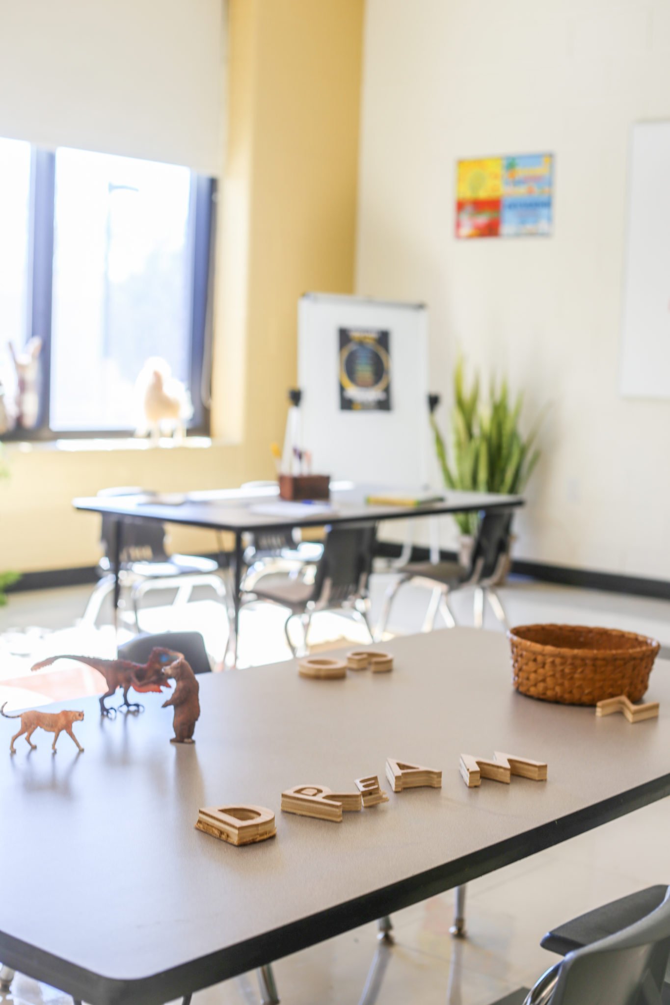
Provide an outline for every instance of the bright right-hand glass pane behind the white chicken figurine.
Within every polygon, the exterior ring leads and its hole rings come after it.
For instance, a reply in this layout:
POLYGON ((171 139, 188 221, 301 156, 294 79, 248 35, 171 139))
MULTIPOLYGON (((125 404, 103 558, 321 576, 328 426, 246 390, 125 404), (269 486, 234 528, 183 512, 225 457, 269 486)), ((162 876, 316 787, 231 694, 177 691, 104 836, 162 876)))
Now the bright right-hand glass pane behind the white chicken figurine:
MULTIPOLYGON (((187 168, 56 151, 52 429, 134 428, 135 384, 149 357, 189 384, 191 179, 187 168)), ((0 262, 3 247, 0 234, 0 262)))

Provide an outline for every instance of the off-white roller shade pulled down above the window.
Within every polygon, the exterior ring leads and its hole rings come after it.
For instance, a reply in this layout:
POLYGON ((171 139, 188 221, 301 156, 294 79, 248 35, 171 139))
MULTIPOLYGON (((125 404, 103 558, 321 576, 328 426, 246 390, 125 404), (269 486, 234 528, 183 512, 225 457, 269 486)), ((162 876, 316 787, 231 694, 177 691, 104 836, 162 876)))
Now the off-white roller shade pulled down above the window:
POLYGON ((224 0, 0 0, 0 136, 221 169, 224 0))

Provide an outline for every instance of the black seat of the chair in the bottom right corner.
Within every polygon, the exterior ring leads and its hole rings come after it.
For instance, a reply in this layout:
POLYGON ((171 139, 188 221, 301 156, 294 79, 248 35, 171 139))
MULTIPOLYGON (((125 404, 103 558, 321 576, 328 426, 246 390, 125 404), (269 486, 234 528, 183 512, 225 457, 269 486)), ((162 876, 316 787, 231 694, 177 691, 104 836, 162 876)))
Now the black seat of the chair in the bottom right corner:
POLYGON ((589 911, 586 915, 574 918, 572 922, 566 922, 556 929, 547 932, 540 946, 550 953, 557 953, 559 956, 567 956, 568 953, 583 946, 591 946, 592 943, 608 936, 622 932, 630 925, 646 918, 652 911, 658 908, 665 897, 667 886, 648 886, 637 893, 629 896, 622 896, 611 903, 605 903, 602 908, 589 911))

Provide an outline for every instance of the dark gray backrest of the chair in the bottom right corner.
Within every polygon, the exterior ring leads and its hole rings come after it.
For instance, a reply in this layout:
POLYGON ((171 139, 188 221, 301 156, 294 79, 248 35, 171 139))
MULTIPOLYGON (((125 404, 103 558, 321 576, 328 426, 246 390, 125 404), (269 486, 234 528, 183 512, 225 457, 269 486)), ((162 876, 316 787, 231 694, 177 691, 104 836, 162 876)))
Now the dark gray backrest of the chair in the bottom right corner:
POLYGON ((661 1005, 670 958, 669 893, 660 908, 630 928, 569 953, 551 1005, 661 1005))

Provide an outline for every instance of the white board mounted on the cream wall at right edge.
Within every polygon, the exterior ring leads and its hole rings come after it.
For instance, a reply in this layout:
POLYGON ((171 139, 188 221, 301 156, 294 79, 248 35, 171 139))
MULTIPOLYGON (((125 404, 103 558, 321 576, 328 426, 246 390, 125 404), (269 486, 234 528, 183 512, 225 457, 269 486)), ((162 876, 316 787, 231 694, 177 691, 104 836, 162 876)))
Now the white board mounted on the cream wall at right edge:
POLYGON ((670 398, 670 123, 633 127, 621 392, 670 398))

